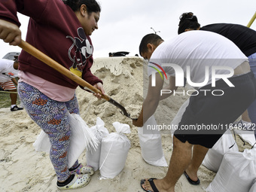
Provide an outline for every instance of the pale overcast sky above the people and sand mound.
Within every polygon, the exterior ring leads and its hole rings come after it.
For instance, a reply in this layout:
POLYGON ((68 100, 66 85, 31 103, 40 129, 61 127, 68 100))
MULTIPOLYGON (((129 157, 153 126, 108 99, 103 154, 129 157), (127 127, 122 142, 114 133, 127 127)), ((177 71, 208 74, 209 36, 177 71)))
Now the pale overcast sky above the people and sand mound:
MULTIPOLYGON (((91 35, 93 57, 105 57, 109 52, 128 51, 128 56, 139 54, 139 43, 148 33, 157 32, 163 39, 178 35, 179 16, 193 12, 201 26, 211 23, 247 25, 256 11, 255 0, 99 0, 102 12, 99 29, 91 35), (153 29, 151 29, 151 27, 153 29), (160 31, 160 32, 158 32, 160 31)), ((23 40, 29 18, 21 14, 23 40)), ((251 25, 256 30, 256 20, 251 25)), ((6 53, 20 51, 0 40, 0 58, 6 53)))

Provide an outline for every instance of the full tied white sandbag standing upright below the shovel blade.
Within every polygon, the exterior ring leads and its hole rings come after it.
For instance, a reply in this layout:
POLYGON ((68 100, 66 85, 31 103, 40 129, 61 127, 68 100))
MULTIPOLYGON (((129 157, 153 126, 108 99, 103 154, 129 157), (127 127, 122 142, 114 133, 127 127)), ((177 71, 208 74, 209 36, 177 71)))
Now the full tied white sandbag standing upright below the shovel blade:
POLYGON ((130 126, 114 122, 117 133, 110 133, 102 139, 102 150, 99 160, 101 178, 114 178, 125 166, 130 140, 123 133, 130 133, 130 126))

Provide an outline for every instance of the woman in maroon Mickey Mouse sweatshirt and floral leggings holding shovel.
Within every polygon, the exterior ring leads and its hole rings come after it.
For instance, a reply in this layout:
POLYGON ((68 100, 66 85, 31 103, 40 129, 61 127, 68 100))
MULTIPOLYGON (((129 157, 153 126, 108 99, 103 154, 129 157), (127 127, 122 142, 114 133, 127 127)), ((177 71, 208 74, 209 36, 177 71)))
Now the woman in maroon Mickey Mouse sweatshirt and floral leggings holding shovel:
MULTIPOLYGON (((98 29, 101 8, 95 0, 3 0, 0 38, 11 45, 21 41, 17 12, 30 17, 26 41, 105 93, 91 72, 93 45, 89 35, 98 29)), ((69 169, 69 113, 79 114, 78 84, 22 51, 19 56, 19 95, 29 116, 48 134, 50 160, 60 190, 84 187, 93 169, 75 163, 69 169)), ((99 94, 96 95, 100 98, 99 94)))

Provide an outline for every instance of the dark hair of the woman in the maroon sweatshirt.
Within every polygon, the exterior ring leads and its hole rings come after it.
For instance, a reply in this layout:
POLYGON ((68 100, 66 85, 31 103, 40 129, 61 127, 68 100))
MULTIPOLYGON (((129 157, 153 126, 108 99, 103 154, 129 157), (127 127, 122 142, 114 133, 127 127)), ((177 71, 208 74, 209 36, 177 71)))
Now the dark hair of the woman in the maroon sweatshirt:
POLYGON ((81 5, 87 6, 88 14, 92 12, 100 12, 101 8, 95 0, 62 0, 66 5, 72 8, 73 11, 78 11, 81 5))

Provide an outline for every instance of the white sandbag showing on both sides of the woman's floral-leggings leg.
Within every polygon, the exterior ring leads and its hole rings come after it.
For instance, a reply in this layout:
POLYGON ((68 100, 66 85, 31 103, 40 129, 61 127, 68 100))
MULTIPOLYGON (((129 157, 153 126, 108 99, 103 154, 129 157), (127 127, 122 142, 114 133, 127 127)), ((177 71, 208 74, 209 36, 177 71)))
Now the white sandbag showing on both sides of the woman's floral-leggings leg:
MULTIPOLYGON (((96 139, 79 114, 69 114, 69 119, 72 134, 68 151, 68 166, 71 168, 86 148, 87 150, 97 148, 98 139, 96 139)), ((41 130, 33 146, 35 151, 50 152, 50 140, 44 131, 41 130)))

